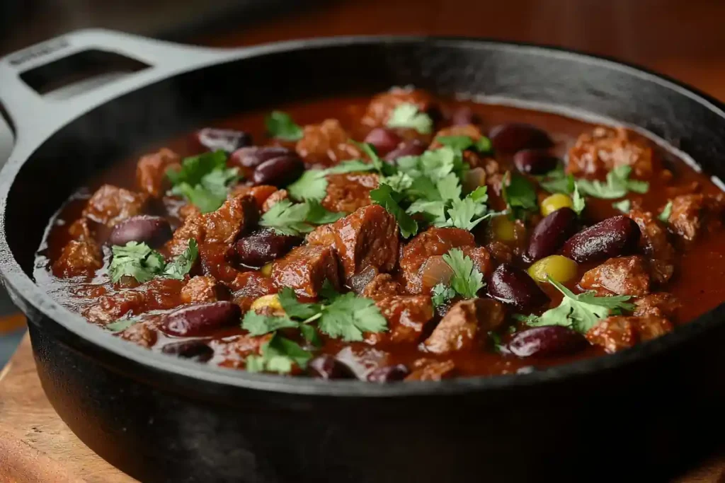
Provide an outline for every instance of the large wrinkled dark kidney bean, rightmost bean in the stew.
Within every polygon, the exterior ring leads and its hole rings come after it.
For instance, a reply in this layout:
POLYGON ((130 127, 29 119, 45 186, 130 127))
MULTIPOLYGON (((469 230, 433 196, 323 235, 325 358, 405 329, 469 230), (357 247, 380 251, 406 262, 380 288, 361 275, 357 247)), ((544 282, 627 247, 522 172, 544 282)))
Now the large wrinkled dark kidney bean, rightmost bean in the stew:
POLYGON ((566 240, 563 255, 579 262, 626 255, 636 250, 640 235, 631 218, 611 217, 566 240))

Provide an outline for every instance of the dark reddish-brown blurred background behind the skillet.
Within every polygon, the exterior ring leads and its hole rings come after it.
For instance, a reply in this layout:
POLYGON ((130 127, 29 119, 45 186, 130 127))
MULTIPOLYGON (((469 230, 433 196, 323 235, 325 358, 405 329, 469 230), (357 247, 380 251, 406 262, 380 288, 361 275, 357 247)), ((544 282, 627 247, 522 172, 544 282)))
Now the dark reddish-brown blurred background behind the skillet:
MULTIPOLYGON (((0 0, 0 56, 88 27, 209 46, 464 35, 613 56, 725 100, 724 19, 725 0, 0 0)), ((24 324, 0 293, 0 366, 24 324)))

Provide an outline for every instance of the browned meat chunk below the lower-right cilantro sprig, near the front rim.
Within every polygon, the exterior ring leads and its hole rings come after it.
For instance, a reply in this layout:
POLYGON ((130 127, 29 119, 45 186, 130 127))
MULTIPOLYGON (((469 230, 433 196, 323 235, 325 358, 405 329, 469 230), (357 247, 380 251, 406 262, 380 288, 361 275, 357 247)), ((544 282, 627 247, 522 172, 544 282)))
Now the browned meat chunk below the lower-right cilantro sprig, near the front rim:
POLYGON ((587 332, 587 340, 601 345, 608 353, 633 347, 639 342, 660 337, 673 329, 662 317, 608 317, 587 332))

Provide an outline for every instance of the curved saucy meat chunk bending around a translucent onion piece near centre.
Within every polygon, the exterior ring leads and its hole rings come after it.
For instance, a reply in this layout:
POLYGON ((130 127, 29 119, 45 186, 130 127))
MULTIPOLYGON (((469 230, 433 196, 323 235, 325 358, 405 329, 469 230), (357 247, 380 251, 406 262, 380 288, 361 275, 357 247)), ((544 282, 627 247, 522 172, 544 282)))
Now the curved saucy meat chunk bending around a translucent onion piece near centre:
POLYGON ((460 228, 428 228, 403 246, 400 269, 405 288, 410 293, 421 293, 421 266, 431 256, 443 255, 451 248, 476 245, 471 232, 460 228))

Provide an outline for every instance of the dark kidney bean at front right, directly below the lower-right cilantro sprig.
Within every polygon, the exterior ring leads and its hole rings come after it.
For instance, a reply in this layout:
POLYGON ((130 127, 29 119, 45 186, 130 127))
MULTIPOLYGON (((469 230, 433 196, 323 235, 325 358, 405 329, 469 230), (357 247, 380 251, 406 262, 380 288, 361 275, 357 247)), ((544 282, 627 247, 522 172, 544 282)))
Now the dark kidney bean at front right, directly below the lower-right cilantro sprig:
POLYGON ((526 329, 513 336, 508 350, 515 356, 563 356, 587 347, 579 332, 560 325, 526 329))

